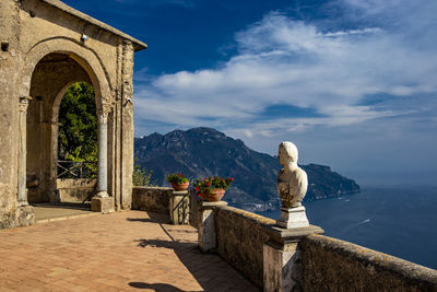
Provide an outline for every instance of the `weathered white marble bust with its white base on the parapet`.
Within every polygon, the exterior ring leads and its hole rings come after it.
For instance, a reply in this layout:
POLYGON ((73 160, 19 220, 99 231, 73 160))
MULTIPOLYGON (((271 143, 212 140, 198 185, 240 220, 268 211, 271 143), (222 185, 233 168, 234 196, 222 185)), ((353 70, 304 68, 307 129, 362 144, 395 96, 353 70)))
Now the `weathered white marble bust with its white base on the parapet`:
POLYGON ((286 229, 308 226, 305 207, 302 206, 302 200, 308 189, 308 177, 305 171, 297 165, 297 148, 292 142, 282 142, 277 155, 283 168, 277 174, 282 214, 276 224, 286 229))

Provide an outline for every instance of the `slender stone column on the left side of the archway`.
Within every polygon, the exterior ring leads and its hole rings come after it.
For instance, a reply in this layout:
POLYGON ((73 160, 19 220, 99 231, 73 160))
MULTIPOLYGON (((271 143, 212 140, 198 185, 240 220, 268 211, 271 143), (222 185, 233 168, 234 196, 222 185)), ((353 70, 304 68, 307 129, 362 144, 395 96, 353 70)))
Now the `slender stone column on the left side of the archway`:
POLYGON ((26 160, 27 160, 27 107, 32 97, 21 97, 19 104, 19 186, 17 201, 19 207, 27 206, 27 186, 26 186, 26 160))

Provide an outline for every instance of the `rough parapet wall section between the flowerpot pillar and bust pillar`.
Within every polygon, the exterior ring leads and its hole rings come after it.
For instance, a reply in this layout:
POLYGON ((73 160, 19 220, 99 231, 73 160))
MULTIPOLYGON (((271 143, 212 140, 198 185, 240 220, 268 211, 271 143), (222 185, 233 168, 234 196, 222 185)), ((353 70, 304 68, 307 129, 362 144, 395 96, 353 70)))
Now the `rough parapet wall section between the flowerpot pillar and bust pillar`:
POLYGON ((258 287, 263 287, 265 227, 274 220, 233 207, 215 209, 217 253, 258 287))

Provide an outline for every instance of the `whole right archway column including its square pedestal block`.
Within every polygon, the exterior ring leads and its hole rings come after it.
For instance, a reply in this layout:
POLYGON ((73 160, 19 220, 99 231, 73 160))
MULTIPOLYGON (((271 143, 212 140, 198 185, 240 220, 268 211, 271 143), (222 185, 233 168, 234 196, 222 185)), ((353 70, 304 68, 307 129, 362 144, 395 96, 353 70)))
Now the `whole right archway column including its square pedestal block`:
POLYGON ((108 113, 97 114, 98 119, 98 174, 97 194, 91 200, 91 210, 114 212, 114 198, 108 195, 108 113))

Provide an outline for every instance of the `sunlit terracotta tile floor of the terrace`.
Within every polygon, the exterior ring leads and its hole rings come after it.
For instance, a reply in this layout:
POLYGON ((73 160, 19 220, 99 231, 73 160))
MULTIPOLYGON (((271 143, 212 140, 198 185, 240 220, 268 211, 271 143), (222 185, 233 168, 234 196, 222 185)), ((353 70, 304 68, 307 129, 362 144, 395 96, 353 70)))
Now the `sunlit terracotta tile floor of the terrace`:
POLYGON ((0 231, 0 291, 258 291, 191 226, 128 211, 0 231))

